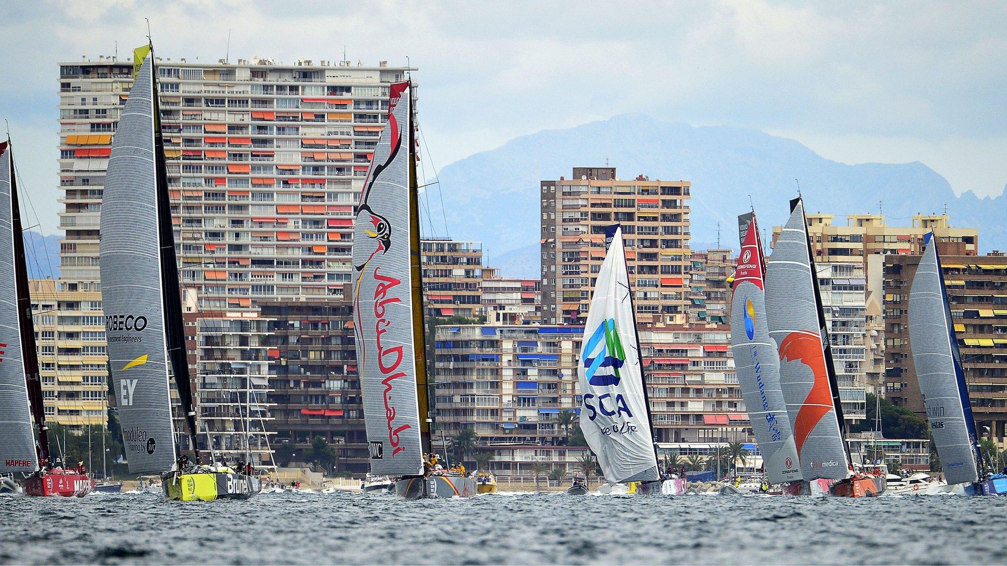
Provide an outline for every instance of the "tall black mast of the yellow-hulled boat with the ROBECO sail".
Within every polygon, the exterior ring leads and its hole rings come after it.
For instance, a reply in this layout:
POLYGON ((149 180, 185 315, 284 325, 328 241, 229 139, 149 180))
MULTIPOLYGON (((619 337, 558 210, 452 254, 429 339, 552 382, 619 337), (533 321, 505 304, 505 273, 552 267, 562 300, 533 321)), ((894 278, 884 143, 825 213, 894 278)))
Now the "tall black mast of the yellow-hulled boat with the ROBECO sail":
MULTIPOLYGON (((164 158, 164 139, 161 136, 161 112, 157 93, 157 57, 150 44, 150 90, 154 108, 154 165, 156 173, 157 237, 161 250, 161 285, 164 289, 164 336, 175 388, 181 401, 182 414, 188 426, 189 441, 199 462, 199 445, 196 443, 195 408, 192 403, 192 383, 189 379, 188 355, 185 350, 185 325, 182 321, 181 286, 178 281, 178 262, 175 258, 174 229, 171 224, 171 198, 168 193, 168 169, 164 158)), ((212 462, 211 462, 212 463, 212 462)))

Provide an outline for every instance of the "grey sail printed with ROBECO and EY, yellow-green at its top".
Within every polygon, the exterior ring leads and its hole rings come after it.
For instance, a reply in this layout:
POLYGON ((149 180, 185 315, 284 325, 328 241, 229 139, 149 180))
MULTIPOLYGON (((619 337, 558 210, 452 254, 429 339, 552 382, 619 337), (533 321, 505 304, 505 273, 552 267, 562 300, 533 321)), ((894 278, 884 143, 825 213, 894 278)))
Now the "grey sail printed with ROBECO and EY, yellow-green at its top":
POLYGON ((112 141, 100 264, 109 370, 130 473, 171 468, 171 422, 155 156, 153 57, 142 56, 112 141))

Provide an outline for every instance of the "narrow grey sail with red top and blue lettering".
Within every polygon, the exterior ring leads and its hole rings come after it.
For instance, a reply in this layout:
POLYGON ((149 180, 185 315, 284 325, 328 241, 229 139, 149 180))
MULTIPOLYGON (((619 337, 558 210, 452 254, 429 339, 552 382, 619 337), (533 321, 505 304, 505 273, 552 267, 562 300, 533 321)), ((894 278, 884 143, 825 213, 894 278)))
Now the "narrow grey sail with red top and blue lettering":
POLYGON ((764 261, 752 214, 742 215, 741 255, 731 299, 731 351, 770 483, 801 479, 794 429, 779 385, 779 358, 765 316, 764 261))

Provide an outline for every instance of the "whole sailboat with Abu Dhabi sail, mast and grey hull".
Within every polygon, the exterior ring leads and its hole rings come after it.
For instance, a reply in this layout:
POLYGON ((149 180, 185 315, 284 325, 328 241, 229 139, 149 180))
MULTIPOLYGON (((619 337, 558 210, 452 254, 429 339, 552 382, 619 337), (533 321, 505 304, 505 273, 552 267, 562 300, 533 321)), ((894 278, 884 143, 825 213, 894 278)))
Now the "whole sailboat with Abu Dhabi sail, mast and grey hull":
POLYGON ((412 86, 389 89, 353 229, 356 359, 371 472, 396 477, 408 500, 467 498, 473 477, 440 469, 431 453, 412 86))

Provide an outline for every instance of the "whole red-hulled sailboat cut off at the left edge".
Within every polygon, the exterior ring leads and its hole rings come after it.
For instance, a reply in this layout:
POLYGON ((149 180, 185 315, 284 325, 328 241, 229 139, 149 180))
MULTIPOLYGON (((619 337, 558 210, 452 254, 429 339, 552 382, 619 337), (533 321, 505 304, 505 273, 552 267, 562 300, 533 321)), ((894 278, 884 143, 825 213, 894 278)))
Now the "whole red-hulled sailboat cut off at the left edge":
POLYGON ((0 142, 0 490, 84 497, 95 480, 52 465, 28 296, 23 225, 10 138, 0 142))

